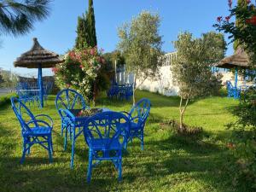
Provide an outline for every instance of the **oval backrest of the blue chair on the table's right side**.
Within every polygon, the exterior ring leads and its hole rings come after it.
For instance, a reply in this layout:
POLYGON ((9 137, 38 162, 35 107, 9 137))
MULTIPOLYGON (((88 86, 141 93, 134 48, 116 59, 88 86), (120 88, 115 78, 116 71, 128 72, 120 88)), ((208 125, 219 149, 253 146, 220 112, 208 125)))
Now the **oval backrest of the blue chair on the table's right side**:
POLYGON ((138 101, 130 111, 130 116, 132 118, 132 121, 134 123, 143 125, 149 115, 151 108, 151 103, 148 99, 143 98, 140 101, 138 101))

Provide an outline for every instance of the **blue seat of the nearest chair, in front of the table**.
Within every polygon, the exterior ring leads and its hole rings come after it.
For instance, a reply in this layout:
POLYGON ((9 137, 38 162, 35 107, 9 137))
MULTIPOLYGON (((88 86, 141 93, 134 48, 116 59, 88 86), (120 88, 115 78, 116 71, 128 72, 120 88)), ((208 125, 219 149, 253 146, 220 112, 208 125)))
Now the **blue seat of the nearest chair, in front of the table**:
POLYGON ((113 140, 110 146, 108 143, 110 142, 109 138, 103 139, 94 139, 90 143, 90 148, 93 150, 121 150, 122 145, 119 143, 119 140, 113 140))

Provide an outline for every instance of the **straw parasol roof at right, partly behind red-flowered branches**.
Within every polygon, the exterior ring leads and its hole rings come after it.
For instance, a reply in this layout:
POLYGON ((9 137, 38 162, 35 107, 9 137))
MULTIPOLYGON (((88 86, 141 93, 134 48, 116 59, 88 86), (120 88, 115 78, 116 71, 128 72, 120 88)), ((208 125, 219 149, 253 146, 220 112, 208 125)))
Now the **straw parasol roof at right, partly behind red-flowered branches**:
POLYGON ((215 67, 221 67, 221 68, 234 68, 234 67, 241 67, 241 68, 250 68, 248 65, 249 59, 247 53, 244 51, 244 49, 241 49, 239 47, 236 49, 236 52, 234 55, 225 57, 222 61, 219 61, 217 64, 215 64, 215 67))

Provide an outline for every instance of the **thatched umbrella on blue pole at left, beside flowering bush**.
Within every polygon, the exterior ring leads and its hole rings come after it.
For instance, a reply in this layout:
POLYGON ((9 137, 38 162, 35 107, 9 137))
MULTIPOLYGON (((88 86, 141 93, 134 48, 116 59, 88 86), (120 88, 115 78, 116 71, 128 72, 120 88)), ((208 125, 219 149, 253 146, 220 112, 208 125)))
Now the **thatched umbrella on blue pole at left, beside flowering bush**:
POLYGON ((59 55, 44 49, 37 38, 33 38, 32 49, 20 55, 14 62, 15 67, 38 68, 38 88, 41 108, 44 108, 44 89, 42 80, 42 68, 55 67, 57 63, 63 62, 59 55))

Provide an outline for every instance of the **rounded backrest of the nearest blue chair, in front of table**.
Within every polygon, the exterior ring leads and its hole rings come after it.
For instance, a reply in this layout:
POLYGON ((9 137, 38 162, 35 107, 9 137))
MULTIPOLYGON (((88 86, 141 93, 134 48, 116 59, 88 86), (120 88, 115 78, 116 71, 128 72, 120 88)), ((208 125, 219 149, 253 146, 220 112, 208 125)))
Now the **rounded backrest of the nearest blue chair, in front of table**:
POLYGON ((129 129, 130 120, 123 113, 97 113, 86 120, 84 124, 84 139, 89 147, 97 140, 99 145, 104 145, 108 149, 113 141, 124 144, 127 134, 122 133, 129 129))

